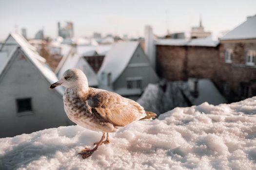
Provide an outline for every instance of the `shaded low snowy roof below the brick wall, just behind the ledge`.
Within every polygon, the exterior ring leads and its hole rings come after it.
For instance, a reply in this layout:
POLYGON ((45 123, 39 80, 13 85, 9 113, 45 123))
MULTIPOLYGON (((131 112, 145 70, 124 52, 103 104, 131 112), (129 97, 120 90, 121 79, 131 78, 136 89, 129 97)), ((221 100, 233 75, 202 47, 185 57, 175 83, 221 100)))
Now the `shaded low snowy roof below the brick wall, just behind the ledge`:
POLYGON ((211 80, 190 78, 188 81, 149 84, 137 102, 146 110, 161 114, 175 107, 199 105, 203 102, 217 105, 227 101, 211 80), (193 95, 196 80, 197 95, 193 95))

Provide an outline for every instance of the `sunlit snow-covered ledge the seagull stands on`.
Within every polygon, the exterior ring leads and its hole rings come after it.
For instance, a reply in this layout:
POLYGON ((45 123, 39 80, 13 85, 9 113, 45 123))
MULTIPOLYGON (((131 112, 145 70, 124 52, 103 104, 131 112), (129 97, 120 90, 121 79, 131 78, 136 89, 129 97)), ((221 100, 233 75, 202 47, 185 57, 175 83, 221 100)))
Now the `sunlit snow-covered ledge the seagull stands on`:
POLYGON ((0 169, 256 169, 256 97, 218 106, 175 108, 110 135, 89 158, 100 133, 79 126, 0 139, 0 169))

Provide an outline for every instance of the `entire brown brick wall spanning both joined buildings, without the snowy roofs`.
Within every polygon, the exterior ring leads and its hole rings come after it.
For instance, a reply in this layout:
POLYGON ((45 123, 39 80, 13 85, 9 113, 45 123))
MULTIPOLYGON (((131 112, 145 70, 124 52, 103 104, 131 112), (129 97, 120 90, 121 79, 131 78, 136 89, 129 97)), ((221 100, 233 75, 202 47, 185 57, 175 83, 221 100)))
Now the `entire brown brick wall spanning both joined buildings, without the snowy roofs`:
POLYGON ((256 66, 245 65, 248 50, 256 50, 256 39, 221 41, 217 47, 158 45, 157 72, 172 81, 209 78, 235 102, 256 95, 256 66), (226 49, 233 50, 232 63, 225 63, 226 49), (246 96, 244 86, 248 86, 246 96))

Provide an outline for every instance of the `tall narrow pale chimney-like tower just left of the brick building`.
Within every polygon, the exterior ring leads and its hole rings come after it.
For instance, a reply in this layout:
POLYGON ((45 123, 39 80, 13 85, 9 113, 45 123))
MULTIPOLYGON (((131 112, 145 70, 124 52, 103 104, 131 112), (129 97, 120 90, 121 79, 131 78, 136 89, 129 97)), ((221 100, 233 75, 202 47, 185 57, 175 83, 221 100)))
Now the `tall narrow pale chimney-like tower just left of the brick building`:
POLYGON ((152 67, 156 70, 156 46, 151 26, 145 26, 145 53, 147 54, 152 67))

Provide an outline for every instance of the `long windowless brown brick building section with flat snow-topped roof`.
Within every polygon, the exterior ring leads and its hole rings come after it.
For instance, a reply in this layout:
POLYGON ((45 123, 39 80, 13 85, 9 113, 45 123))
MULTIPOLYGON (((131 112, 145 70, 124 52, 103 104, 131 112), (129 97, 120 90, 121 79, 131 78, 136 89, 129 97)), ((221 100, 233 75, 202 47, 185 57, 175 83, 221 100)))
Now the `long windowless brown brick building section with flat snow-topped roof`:
POLYGON ((215 77, 218 41, 203 39, 162 39, 157 42, 157 72, 177 81, 215 77))

